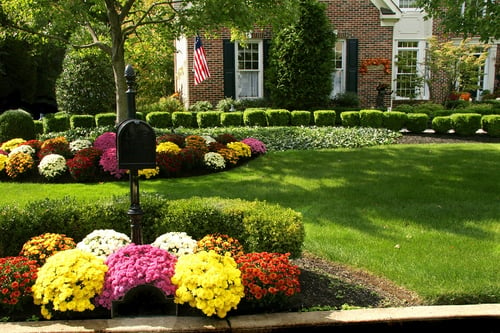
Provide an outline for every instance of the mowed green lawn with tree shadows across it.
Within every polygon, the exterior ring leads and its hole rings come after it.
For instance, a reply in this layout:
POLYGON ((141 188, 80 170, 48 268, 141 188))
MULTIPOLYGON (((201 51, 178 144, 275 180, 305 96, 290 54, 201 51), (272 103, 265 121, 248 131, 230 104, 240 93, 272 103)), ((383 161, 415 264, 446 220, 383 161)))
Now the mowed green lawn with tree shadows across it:
MULTIPOLYGON (((279 203, 303 214, 308 251, 428 304, 500 302, 499 167, 499 144, 286 151, 223 173, 141 181, 140 190, 279 203)), ((3 205, 129 193, 127 181, 0 186, 3 205)))

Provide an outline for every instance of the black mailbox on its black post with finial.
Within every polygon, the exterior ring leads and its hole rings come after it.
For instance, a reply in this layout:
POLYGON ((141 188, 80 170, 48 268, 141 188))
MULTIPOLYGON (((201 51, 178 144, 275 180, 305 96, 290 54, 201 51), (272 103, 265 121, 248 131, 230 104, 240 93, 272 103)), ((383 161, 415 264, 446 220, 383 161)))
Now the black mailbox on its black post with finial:
POLYGON ((131 239, 142 244, 142 211, 139 200, 139 169, 156 167, 156 136, 152 127, 135 119, 135 72, 132 66, 125 69, 127 79, 128 118, 118 125, 116 146, 118 167, 129 170, 130 179, 130 217, 131 239))

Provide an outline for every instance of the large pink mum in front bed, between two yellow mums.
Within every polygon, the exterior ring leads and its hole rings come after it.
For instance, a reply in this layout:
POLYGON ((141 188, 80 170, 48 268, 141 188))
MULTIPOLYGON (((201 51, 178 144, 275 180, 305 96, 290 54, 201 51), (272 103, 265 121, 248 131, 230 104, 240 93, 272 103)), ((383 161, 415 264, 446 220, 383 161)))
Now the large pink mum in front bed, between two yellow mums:
POLYGON ((110 309, 113 301, 142 284, 151 284, 165 295, 173 295, 176 287, 171 278, 176 262, 174 255, 151 245, 130 244, 119 249, 106 260, 109 269, 96 304, 110 309))

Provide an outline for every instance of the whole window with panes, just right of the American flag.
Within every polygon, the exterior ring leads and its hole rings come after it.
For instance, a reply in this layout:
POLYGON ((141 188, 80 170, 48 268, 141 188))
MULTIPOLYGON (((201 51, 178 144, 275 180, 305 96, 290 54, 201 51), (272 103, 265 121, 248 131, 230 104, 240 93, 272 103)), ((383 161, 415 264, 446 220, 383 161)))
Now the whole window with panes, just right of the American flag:
POLYGON ((263 97, 262 41, 236 43, 236 99, 263 97))

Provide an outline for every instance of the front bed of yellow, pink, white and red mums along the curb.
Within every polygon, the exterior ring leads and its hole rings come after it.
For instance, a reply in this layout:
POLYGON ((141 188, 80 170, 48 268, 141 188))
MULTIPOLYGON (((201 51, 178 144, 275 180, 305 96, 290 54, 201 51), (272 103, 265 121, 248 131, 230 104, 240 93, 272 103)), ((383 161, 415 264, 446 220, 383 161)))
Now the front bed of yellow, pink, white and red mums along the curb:
POLYGON ((0 309, 23 312, 20 300, 32 299, 31 305, 39 306, 32 313, 37 317, 66 313, 65 319, 71 319, 82 312, 92 317, 93 311, 109 311, 129 291, 146 286, 165 300, 172 296, 176 304, 224 318, 243 300, 282 305, 300 292, 300 271, 288 257, 244 253, 239 241, 226 234, 196 241, 184 232, 170 232, 151 245, 136 245, 114 230, 95 230, 75 248, 72 238, 47 233, 26 242, 21 256, 0 258, 0 309), (25 257, 34 254, 44 260, 25 257))

